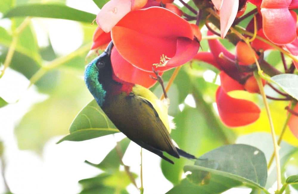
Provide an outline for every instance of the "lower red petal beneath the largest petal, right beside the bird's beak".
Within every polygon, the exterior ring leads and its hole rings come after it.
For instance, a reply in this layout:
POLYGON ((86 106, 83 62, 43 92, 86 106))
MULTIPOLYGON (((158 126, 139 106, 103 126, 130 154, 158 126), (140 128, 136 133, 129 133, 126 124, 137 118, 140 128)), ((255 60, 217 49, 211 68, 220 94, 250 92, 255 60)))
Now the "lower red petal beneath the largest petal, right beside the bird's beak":
MULTIPOLYGON (((146 88, 152 87, 157 82, 150 78, 150 74, 156 77, 153 72, 142 71, 134 67, 118 53, 115 47, 112 49, 111 62, 115 75, 123 81, 139 84, 146 88)), ((162 73, 159 75, 161 76, 162 73)))

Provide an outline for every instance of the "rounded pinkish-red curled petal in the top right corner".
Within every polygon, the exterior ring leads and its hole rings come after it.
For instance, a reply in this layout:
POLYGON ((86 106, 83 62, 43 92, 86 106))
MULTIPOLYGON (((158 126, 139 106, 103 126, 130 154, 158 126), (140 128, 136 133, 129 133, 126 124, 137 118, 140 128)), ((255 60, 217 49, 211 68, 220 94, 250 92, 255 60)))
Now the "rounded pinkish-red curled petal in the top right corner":
POLYGON ((288 8, 262 8, 261 12, 264 34, 271 42, 283 45, 296 39, 296 22, 288 8))

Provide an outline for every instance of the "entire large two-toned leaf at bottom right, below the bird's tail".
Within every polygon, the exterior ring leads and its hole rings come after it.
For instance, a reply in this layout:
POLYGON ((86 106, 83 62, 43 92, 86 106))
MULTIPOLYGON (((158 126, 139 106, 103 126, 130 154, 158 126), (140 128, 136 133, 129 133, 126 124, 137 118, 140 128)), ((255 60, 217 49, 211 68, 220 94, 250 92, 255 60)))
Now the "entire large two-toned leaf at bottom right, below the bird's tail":
POLYGON ((192 193, 222 193, 230 188, 246 186, 268 193, 266 184, 267 165, 263 152, 244 144, 219 147, 200 157, 195 165, 187 165, 187 180, 173 187, 168 194, 187 190, 192 193))

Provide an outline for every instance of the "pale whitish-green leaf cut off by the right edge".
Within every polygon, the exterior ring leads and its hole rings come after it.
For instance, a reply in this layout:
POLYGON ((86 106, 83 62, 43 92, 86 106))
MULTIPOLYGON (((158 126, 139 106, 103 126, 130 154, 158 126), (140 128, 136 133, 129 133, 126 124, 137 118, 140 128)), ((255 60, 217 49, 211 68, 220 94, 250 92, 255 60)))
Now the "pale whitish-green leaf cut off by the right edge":
POLYGON ((286 93, 298 99, 298 76, 294 74, 281 74, 271 77, 271 80, 279 85, 286 93))

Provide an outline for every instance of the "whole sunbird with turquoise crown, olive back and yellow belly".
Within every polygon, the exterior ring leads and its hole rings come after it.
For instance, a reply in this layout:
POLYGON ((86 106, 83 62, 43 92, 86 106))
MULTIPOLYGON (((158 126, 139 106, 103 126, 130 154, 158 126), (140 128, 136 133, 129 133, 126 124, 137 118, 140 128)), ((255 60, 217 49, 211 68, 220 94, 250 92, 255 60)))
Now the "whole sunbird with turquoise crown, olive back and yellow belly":
POLYGON ((159 155, 197 159, 173 144, 166 105, 147 88, 119 79, 111 64, 111 41, 86 67, 85 82, 97 104, 119 131, 139 146, 159 155))

